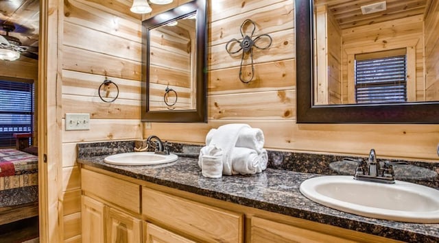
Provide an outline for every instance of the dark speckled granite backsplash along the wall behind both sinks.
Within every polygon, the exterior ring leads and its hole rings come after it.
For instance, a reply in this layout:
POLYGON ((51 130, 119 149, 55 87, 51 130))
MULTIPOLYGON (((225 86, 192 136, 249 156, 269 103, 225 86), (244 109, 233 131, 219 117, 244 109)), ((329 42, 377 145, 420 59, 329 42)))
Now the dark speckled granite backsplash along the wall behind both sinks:
MULTIPOLYGON (((180 157, 198 158, 202 145, 168 142, 169 151, 180 157)), ((78 144, 78 157, 93 157, 134 151, 134 141, 91 142, 78 144)), ((149 149, 154 151, 154 149, 149 149)), ((379 153, 377 154, 379 158, 379 153)), ((320 155, 268 150, 268 168, 320 175, 354 175, 358 160, 367 157, 320 155), (347 159, 346 159, 347 158, 347 159)), ((439 162, 418 162, 400 159, 378 159, 405 162, 395 164, 395 179, 418 183, 439 190, 439 162)))

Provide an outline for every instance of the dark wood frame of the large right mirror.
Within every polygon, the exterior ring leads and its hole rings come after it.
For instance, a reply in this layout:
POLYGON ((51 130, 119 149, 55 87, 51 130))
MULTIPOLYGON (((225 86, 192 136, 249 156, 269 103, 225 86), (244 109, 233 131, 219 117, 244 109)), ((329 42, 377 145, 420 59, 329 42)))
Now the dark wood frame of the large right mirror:
POLYGON ((313 0, 296 0, 297 123, 439 123, 439 102, 313 105, 313 0))

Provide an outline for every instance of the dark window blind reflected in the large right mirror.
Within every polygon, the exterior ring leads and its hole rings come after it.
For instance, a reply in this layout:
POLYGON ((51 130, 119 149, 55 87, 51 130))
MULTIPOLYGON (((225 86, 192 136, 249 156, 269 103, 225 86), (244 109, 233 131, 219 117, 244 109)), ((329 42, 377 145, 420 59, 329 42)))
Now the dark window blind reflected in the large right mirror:
POLYGON ((357 103, 407 101, 405 55, 355 60, 357 103))

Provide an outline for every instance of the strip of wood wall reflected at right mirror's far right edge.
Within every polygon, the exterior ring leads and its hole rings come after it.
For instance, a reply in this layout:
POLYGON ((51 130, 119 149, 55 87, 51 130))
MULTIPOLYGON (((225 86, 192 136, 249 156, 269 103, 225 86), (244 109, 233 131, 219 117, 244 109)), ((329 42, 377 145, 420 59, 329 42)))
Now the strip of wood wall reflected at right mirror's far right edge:
POLYGON ((439 99, 439 1, 431 1, 425 18, 425 96, 439 99))

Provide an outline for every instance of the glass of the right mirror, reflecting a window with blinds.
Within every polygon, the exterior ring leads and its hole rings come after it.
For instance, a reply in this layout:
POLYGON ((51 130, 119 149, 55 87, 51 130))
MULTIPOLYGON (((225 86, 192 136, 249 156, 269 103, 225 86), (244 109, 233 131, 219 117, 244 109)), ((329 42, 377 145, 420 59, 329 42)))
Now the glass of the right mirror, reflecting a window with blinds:
POLYGON ((313 105, 439 101, 431 2, 313 0, 313 105))

